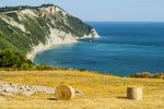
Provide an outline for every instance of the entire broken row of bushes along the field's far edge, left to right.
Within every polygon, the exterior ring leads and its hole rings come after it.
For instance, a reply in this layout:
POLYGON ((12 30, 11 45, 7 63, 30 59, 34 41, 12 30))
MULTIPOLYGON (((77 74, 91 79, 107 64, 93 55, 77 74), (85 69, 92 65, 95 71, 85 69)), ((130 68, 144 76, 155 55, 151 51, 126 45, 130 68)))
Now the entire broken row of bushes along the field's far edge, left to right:
MULTIPOLYGON (((46 63, 35 64, 31 60, 26 59, 24 56, 21 56, 19 52, 12 51, 12 49, 4 49, 0 51, 0 70, 5 71, 54 71, 54 70, 63 70, 63 71, 73 71, 69 68, 57 68, 50 66, 46 63)), ((86 72, 86 69, 77 69, 81 72, 86 72)), ((97 73, 97 72, 96 72, 97 73)), ((101 74, 101 73, 97 73, 101 74)), ((104 74, 105 75, 105 74, 104 74)), ((112 74, 106 74, 112 75, 112 74)), ((116 75, 114 75, 116 76, 116 75)), ((149 72, 131 74, 128 77, 139 77, 139 78, 164 78, 164 73, 151 74, 149 72)))

